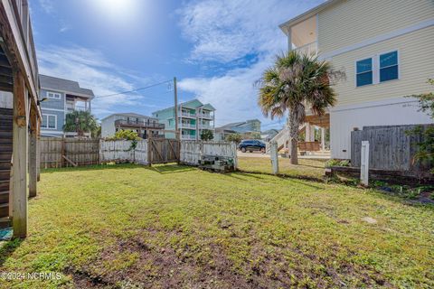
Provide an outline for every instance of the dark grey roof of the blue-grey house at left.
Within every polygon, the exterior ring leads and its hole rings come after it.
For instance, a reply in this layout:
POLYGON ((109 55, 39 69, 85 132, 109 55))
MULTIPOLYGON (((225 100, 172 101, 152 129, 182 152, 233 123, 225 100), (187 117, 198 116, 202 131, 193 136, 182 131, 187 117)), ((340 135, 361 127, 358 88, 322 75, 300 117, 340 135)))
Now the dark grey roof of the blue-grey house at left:
POLYGON ((95 95, 91 89, 81 89, 77 81, 54 78, 48 75, 39 75, 41 89, 52 89, 56 91, 63 91, 67 94, 76 95, 83 98, 94 98, 95 95))

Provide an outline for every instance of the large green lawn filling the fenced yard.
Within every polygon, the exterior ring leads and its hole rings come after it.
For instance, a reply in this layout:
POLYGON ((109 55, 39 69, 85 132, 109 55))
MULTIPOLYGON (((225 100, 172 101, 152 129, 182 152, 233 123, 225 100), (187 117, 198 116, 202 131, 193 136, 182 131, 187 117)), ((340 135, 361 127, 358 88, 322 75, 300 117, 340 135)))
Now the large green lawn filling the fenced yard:
POLYGON ((3 244, 0 271, 60 272, 61 280, 3 288, 434 286, 432 206, 176 165, 41 177, 29 237, 3 244))

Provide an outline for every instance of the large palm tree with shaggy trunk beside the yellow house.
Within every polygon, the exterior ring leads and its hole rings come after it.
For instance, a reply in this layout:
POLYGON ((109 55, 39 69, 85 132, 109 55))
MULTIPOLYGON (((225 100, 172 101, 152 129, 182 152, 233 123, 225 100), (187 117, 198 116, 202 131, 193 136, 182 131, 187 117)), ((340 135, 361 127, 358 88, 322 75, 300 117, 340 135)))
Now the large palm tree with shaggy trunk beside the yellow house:
POLYGON ((341 77, 344 72, 332 70, 329 62, 297 51, 276 56, 274 66, 263 72, 259 79, 259 107, 271 119, 283 117, 288 110, 291 163, 298 164, 298 129, 306 109, 322 116, 326 107, 334 106, 331 82, 341 77))

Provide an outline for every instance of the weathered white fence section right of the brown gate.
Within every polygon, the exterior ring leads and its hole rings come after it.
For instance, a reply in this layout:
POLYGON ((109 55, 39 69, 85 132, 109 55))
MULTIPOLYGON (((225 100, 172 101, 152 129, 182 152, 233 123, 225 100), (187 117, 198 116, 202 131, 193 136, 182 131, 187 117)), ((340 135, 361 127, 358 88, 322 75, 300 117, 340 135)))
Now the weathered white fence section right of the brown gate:
POLYGON ((203 154, 231 157, 238 167, 237 144, 226 142, 182 141, 180 162, 198 165, 203 154))

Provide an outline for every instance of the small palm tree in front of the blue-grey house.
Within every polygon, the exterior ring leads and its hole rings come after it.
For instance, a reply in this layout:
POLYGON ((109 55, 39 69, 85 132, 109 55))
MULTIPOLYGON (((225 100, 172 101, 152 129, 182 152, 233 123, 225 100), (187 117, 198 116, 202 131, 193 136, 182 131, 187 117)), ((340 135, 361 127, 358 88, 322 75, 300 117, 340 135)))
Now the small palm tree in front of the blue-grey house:
POLYGON ((97 120, 89 111, 74 110, 66 115, 63 132, 76 132, 77 135, 83 136, 84 133, 95 131, 97 127, 97 120))

